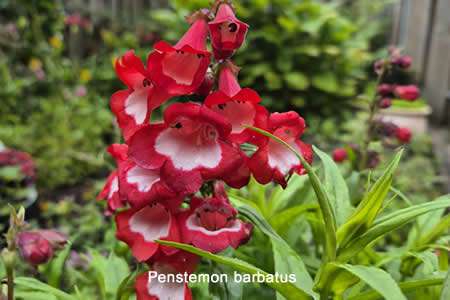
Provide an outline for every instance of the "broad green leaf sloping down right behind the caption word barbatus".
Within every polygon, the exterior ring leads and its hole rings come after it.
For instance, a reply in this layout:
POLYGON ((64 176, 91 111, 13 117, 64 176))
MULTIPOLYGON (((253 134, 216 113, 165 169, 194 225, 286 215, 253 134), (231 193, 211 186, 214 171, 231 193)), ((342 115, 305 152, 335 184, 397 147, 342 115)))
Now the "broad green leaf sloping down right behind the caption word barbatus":
POLYGON ((296 286, 307 294, 317 297, 313 292, 313 280, 301 257, 273 230, 267 221, 247 205, 237 207, 239 213, 254 223, 271 242, 275 261, 275 270, 279 274, 295 274, 296 286))

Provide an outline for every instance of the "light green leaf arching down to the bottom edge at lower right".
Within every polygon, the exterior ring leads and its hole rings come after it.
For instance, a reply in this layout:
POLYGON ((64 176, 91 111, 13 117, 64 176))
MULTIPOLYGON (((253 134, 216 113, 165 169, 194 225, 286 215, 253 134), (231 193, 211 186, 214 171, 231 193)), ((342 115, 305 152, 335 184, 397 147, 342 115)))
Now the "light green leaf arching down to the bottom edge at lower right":
MULTIPOLYGON (((386 300, 406 300, 395 280, 382 269, 368 266, 335 264, 359 277, 371 288, 380 293, 386 300)), ((364 298, 365 299, 365 298, 364 298)))

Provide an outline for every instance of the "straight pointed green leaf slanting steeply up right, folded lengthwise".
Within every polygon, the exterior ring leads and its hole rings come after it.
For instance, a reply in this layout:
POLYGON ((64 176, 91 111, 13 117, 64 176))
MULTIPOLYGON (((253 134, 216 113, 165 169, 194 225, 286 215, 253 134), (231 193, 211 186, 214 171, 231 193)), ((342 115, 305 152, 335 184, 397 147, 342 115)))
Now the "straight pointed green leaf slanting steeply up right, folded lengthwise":
POLYGON ((374 183, 369 192, 364 195, 364 198, 356 207, 356 210, 347 222, 339 227, 337 231, 337 241, 340 248, 345 247, 353 236, 359 236, 374 222, 389 193, 394 171, 397 169, 402 154, 403 150, 395 155, 383 175, 374 183))

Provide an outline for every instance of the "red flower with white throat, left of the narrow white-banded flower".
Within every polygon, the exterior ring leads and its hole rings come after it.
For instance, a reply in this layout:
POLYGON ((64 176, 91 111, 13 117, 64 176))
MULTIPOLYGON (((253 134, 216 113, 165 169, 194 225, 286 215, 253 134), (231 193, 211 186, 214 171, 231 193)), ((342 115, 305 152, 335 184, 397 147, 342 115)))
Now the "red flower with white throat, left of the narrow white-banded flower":
POLYGON ((158 250, 173 254, 177 249, 161 246, 155 240, 178 242, 180 234, 175 217, 160 203, 141 209, 128 209, 116 215, 117 239, 131 248, 138 261, 148 260, 158 250))

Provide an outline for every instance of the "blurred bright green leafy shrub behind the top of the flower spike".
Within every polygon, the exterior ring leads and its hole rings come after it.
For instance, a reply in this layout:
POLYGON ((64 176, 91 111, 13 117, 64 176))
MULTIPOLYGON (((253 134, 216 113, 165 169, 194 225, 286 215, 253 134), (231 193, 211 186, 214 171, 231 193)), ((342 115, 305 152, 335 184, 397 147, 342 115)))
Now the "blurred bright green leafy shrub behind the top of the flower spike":
MULTIPOLYGON (((207 2, 173 1, 173 11, 152 12, 154 30, 174 40, 183 30, 180 19, 207 2)), ((370 40, 379 22, 353 21, 347 8, 319 1, 242 0, 235 6, 251 24, 236 57, 245 66, 242 85, 257 87, 272 110, 296 108, 328 116, 345 111, 367 79, 370 40)))

